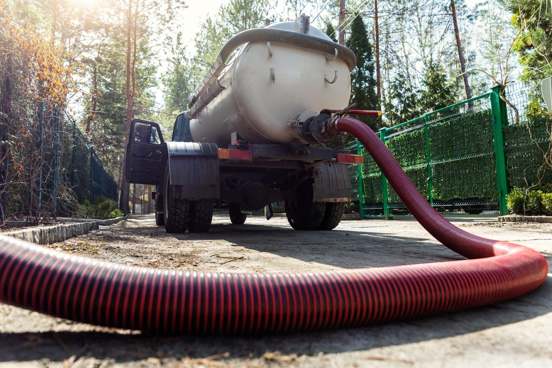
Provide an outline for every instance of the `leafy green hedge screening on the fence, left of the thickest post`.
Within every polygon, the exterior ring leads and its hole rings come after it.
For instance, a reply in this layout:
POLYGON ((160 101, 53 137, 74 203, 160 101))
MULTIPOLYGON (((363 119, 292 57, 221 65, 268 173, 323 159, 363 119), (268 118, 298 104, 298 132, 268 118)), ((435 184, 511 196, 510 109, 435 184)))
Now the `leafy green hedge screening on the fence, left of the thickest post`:
MULTIPOLYGON (((426 131, 420 121, 412 125, 399 135, 388 131, 391 136, 386 144, 408 177, 429 199, 426 131)), ((434 201, 498 198, 490 109, 430 121, 428 135, 434 201)), ((379 168, 365 150, 362 154, 365 203, 380 203, 379 168)), ((400 202, 390 186, 389 201, 400 202)))

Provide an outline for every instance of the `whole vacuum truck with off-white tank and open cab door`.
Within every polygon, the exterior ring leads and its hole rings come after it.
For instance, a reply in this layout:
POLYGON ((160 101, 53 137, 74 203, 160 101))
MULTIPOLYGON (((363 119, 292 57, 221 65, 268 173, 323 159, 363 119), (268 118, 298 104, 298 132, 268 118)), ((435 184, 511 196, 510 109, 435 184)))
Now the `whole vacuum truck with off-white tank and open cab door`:
POLYGON ((132 121, 126 180, 157 185, 156 223, 169 233, 208 231, 214 209, 243 224, 268 206, 269 219, 279 201, 295 230, 332 230, 351 201, 346 165, 363 157, 325 148, 337 134, 322 123, 349 104, 355 62, 304 14, 236 34, 170 141, 155 122, 132 121))

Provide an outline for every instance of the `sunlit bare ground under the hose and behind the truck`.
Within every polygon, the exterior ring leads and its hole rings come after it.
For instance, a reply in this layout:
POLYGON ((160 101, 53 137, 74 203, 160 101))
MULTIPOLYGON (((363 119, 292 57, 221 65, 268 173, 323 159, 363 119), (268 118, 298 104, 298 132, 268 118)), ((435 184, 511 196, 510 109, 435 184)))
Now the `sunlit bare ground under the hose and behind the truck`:
MULTIPOLYGON (((534 248, 552 264, 552 224, 455 219, 457 226, 534 248)), ((153 216, 55 244, 126 264, 212 271, 316 271, 463 259, 416 221, 343 221, 330 232, 294 231, 285 218, 209 233, 167 234, 153 216)), ((0 366, 464 367, 552 366, 552 274, 539 289, 476 310, 363 328, 257 337, 145 335, 0 304, 0 366)))

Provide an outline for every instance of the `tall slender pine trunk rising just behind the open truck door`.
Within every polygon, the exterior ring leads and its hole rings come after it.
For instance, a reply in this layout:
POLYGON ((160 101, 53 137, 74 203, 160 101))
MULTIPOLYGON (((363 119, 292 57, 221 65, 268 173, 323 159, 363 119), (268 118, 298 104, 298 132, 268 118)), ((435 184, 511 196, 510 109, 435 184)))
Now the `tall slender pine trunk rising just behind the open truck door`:
POLYGON ((130 136, 130 122, 132 121, 132 93, 130 90, 130 56, 131 56, 131 46, 130 46, 130 35, 132 32, 132 0, 129 0, 129 12, 126 18, 126 130, 125 130, 125 155, 123 161, 123 173, 121 175, 121 191, 119 198, 119 209, 125 214, 129 213, 129 191, 130 184, 126 181, 125 172, 126 172, 126 155, 128 154, 126 146, 129 143, 130 136))

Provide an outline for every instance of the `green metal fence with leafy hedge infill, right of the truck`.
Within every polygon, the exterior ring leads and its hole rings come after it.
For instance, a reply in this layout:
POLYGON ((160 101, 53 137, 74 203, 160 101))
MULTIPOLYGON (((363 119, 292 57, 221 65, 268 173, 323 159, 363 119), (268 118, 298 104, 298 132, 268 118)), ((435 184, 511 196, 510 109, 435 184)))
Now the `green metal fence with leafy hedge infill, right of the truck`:
MULTIPOLYGON (((377 134, 444 215, 506 215, 511 188, 552 190, 550 169, 541 165, 550 144, 550 116, 538 81, 511 84, 503 93, 496 86, 377 134)), ((352 174, 360 215, 410 215, 365 148, 357 145, 364 155, 358 174, 352 174)))

